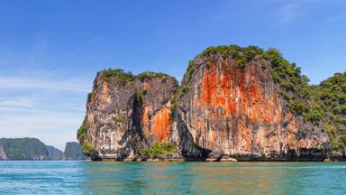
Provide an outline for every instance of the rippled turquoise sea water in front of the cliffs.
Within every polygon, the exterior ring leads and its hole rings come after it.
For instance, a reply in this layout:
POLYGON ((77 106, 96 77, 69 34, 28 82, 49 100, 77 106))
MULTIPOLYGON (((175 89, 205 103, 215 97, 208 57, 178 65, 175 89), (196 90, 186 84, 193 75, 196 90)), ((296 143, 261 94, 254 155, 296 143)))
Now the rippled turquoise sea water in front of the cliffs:
POLYGON ((0 194, 346 194, 346 163, 9 161, 0 194))

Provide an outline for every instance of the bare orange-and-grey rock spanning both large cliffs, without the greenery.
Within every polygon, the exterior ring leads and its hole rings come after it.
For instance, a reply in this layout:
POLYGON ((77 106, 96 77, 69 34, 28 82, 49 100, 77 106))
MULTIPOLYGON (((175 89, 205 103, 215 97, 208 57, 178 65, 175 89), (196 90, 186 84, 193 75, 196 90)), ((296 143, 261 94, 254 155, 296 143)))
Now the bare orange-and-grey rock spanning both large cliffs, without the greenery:
POLYGON ((197 56, 179 88, 168 76, 124 80, 100 72, 84 133, 92 159, 136 158, 169 141, 186 159, 322 161, 331 152, 328 135, 290 112, 270 71, 269 60, 239 67, 214 54, 197 56))

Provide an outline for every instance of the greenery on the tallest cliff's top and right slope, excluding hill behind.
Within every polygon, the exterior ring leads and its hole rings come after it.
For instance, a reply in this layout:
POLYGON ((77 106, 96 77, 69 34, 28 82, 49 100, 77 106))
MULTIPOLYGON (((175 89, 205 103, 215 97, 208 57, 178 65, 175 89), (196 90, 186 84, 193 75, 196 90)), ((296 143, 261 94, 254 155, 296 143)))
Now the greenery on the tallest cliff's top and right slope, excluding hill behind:
MULTIPOLYGON (((238 45, 222 45, 208 47, 199 56, 220 55, 223 58, 231 57, 240 69, 245 68, 251 60, 261 60, 263 69, 269 68, 271 77, 281 90, 279 93, 287 100, 287 107, 296 115, 303 116, 306 121, 319 125, 325 115, 323 108, 316 104, 311 97, 316 88, 309 86, 309 79, 301 74, 296 63, 290 63, 282 54, 273 48, 263 51, 257 46, 240 47, 238 45), (266 66, 269 62, 269 67, 266 66)), ((192 64, 192 63, 191 63, 192 64)), ((189 68, 193 70, 193 68, 189 68)))

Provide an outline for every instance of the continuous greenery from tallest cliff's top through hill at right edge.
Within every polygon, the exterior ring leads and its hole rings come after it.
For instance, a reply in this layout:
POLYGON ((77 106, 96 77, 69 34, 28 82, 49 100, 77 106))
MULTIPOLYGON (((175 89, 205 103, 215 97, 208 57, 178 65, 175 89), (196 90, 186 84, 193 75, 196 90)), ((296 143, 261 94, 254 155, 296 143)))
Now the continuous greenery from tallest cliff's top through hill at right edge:
MULTIPOLYGON (((244 69, 251 60, 259 61, 262 69, 269 69, 271 78, 281 87, 278 92, 287 100, 289 110, 295 116, 301 116, 306 122, 310 122, 312 128, 320 127, 328 132, 334 150, 346 150, 346 73, 337 73, 319 86, 314 86, 308 84, 310 79, 301 74, 296 63, 285 60, 273 48, 263 51, 257 46, 212 46, 197 58, 212 56, 232 58, 239 69, 244 69)), ((188 91, 195 66, 195 60, 190 60, 183 85, 171 99, 173 106, 188 91)))

